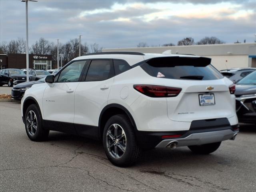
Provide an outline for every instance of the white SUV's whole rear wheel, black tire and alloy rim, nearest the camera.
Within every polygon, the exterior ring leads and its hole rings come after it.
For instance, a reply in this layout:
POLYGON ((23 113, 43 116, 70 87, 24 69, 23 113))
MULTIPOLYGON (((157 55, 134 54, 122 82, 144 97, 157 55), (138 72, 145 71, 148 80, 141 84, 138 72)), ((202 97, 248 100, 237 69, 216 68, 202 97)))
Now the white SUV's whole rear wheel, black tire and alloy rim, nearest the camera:
POLYGON ((106 156, 116 166, 127 167, 138 160, 140 148, 127 116, 115 115, 108 120, 103 132, 103 146, 106 156))

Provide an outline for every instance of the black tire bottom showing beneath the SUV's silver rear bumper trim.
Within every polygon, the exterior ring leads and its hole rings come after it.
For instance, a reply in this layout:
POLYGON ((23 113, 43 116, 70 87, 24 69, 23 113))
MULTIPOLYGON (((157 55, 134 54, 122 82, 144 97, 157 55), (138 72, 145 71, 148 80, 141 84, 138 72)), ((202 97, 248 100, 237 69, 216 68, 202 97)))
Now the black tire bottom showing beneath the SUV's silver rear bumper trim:
POLYGON ((216 151, 221 142, 216 142, 216 143, 209 143, 209 144, 204 144, 204 145, 193 145, 193 146, 188 146, 188 148, 197 154, 209 154, 214 151, 216 151))

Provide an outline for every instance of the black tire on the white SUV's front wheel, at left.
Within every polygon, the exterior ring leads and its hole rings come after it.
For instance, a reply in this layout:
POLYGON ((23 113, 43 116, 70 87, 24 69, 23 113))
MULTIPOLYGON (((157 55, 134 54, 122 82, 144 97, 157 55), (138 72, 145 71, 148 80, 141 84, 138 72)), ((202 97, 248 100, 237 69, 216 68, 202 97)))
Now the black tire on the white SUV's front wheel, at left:
MULTIPOLYGON (((34 124, 35 125, 35 124, 34 124)), ((32 141, 43 141, 48 138, 49 130, 46 130, 42 126, 42 115, 40 110, 38 109, 38 106, 36 104, 31 104, 28 106, 28 109, 25 113, 25 129, 26 133, 28 135, 28 138, 32 141), (28 117, 30 117, 30 112, 36 115, 36 129, 32 129, 32 126, 29 126, 29 120, 27 120, 28 117), (32 131, 33 130, 33 131, 32 131), (33 134, 34 132, 34 134, 33 134)))

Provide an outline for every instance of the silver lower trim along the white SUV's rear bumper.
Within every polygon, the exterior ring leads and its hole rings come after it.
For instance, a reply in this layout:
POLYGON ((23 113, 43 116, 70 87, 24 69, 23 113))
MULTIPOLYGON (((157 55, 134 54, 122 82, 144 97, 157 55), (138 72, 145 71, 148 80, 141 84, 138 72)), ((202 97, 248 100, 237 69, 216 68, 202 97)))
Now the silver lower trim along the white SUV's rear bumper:
POLYGON ((192 133, 185 138, 174 138, 162 140, 156 148, 165 148, 170 144, 170 142, 178 142, 177 146, 190 146, 190 145, 202 145, 207 143, 215 143, 224 140, 228 140, 236 136, 238 131, 232 131, 231 129, 202 132, 202 133, 192 133))

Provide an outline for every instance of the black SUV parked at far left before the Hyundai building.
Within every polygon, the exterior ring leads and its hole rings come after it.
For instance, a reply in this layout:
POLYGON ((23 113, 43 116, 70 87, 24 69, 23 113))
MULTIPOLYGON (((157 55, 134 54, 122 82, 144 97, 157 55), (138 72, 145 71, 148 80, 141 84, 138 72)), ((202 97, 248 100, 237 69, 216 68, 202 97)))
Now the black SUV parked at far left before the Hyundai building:
MULTIPOLYGON (((29 76, 29 80, 31 80, 29 76)), ((9 87, 26 82, 26 74, 20 69, 4 69, 0 74, 0 86, 7 84, 9 87)))

